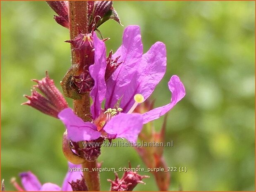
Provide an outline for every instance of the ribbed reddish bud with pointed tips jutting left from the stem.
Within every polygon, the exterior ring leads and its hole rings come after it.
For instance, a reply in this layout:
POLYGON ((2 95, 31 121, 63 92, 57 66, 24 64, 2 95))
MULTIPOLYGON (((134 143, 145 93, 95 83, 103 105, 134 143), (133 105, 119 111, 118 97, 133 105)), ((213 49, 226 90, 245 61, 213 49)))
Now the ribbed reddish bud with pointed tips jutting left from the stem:
POLYGON ((24 95, 29 101, 23 103, 29 105, 44 114, 58 118, 58 113, 67 108, 67 102, 60 91, 56 88, 52 79, 49 78, 46 71, 46 77, 41 81, 35 81, 38 85, 33 86, 32 95, 24 95), (39 89, 43 95, 37 90, 39 89))

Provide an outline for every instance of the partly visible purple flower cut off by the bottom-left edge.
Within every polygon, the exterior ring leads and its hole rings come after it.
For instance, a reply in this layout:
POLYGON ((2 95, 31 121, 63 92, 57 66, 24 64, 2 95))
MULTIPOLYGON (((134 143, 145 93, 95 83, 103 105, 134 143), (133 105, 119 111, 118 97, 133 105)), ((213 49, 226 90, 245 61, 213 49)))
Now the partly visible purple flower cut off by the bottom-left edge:
MULTIPOLYGON (((81 165, 74 165, 71 163, 69 164, 69 168, 81 168, 81 165)), ((53 183, 45 183, 41 184, 36 175, 28 172, 23 172, 19 174, 19 177, 21 178, 21 183, 25 191, 73 191, 72 190, 72 183, 75 183, 75 181, 81 179, 82 172, 67 172, 67 175, 63 181, 62 187, 59 187, 56 184, 53 183)), ((23 188, 19 186, 19 184, 16 182, 15 178, 12 179, 12 184, 14 187, 19 190, 23 191, 23 188)))

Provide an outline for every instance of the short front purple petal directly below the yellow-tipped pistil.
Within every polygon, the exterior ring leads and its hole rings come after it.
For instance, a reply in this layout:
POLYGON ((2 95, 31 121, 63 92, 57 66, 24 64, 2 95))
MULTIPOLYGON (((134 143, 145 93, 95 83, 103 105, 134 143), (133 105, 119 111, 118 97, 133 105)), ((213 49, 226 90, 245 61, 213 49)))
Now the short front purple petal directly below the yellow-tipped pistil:
POLYGON ((105 132, 115 134, 116 137, 124 137, 129 142, 136 142, 141 132, 143 122, 141 114, 118 114, 104 126, 105 132))

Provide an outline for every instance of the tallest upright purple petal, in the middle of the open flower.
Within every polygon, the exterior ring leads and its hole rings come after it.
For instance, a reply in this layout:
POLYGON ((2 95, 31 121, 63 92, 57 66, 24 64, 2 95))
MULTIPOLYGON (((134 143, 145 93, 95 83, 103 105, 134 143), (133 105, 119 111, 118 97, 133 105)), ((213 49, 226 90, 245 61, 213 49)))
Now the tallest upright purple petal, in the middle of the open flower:
POLYGON ((113 59, 121 56, 122 62, 108 79, 105 108, 113 108, 117 100, 123 95, 127 85, 131 82, 134 73, 141 62, 143 45, 139 26, 128 26, 124 29, 123 43, 113 59))

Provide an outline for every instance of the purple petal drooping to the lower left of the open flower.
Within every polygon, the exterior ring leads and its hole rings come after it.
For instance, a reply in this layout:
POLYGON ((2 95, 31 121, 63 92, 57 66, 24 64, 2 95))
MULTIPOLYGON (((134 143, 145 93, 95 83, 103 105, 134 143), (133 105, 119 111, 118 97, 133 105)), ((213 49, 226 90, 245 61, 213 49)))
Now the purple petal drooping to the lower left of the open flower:
POLYGON ((84 122, 70 108, 60 111, 58 117, 67 128, 69 140, 79 142, 95 140, 100 137, 100 132, 97 131, 97 127, 93 123, 84 122))

